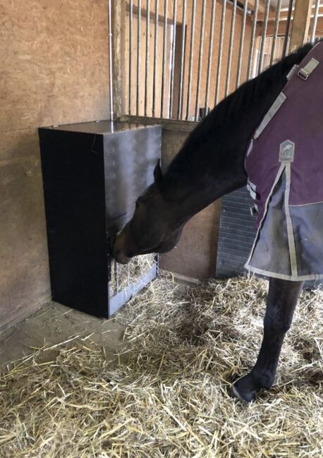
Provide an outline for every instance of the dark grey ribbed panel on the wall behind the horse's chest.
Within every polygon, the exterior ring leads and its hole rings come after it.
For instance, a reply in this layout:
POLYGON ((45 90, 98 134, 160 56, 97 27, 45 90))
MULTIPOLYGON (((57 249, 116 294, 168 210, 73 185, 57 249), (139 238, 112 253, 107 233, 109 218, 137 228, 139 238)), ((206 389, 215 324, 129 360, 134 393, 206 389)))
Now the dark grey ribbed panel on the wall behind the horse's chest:
POLYGON ((247 188, 222 198, 216 277, 242 275, 256 230, 250 213, 252 199, 247 188))

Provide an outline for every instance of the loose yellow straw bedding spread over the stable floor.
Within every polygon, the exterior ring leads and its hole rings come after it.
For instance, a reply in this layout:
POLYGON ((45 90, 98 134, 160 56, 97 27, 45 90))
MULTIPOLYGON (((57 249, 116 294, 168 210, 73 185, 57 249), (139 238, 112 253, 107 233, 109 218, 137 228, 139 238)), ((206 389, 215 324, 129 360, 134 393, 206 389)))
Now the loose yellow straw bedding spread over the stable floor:
MULTIPOLYGON (((267 283, 158 280, 117 315, 115 361, 89 339, 0 380, 1 457, 322 457, 323 294, 304 292, 277 384, 228 397, 255 362, 267 283)), ((90 330, 89 330, 90 331, 90 330)))

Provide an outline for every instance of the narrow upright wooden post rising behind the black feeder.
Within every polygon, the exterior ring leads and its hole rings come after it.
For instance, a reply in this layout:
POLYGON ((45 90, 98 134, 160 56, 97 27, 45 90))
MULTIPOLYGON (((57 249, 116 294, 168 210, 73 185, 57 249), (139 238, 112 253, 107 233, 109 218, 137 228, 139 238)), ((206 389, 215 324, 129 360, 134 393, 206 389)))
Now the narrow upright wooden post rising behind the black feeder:
POLYGON ((124 0, 113 1, 112 35, 114 48, 114 117, 125 112, 125 20, 126 5, 124 0))

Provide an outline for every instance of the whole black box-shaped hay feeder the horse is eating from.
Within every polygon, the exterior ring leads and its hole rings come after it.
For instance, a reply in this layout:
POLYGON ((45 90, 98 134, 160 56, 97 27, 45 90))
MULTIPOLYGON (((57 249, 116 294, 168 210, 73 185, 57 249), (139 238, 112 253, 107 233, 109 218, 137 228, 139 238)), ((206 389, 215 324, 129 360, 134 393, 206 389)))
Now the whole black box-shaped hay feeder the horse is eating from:
POLYGON ((153 181, 162 128, 111 121, 39 128, 54 301, 111 316, 157 275, 154 256, 111 259, 111 236, 153 181))

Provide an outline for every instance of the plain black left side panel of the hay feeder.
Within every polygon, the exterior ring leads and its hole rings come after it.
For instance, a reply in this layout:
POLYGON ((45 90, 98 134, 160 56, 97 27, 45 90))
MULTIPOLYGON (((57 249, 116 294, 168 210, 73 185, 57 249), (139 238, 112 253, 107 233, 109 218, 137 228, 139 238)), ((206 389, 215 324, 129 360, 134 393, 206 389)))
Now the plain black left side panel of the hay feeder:
POLYGON ((39 129, 54 301, 107 315, 102 135, 39 129))

